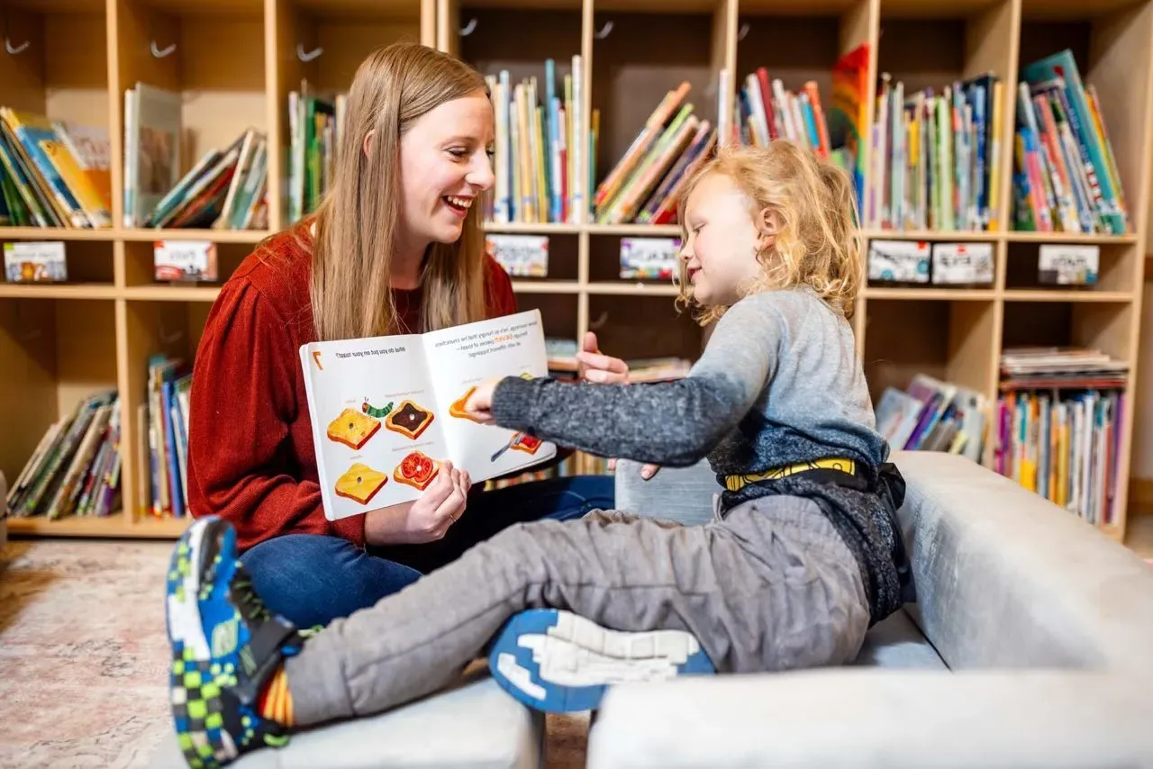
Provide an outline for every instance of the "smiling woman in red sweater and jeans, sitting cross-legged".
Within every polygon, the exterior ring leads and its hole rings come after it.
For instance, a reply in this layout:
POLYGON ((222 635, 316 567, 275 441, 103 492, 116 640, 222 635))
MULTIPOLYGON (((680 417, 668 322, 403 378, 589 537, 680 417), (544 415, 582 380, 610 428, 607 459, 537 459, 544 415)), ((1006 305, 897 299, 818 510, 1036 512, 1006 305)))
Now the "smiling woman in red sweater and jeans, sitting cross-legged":
MULTIPOLYGON (((372 605, 514 522, 612 507, 608 476, 482 491, 446 465, 408 505, 339 521, 322 508, 299 347, 517 310, 475 205, 493 182, 493 125, 467 65, 415 44, 377 51, 348 93, 331 194, 246 258, 209 314, 189 505, 235 527, 254 586, 297 627, 372 605)), ((623 378, 619 360, 587 360, 598 380, 623 378)))

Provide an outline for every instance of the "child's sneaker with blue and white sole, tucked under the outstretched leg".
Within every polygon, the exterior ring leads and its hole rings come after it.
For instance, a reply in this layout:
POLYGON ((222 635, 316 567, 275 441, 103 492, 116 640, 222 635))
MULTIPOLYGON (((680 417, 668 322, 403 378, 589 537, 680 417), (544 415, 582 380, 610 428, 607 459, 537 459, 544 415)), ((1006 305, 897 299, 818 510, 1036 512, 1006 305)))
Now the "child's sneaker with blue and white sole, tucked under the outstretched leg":
POLYGON ((489 670, 504 691, 545 713, 595 710, 613 684, 715 672, 691 633, 610 631, 557 609, 510 619, 492 642, 489 670))

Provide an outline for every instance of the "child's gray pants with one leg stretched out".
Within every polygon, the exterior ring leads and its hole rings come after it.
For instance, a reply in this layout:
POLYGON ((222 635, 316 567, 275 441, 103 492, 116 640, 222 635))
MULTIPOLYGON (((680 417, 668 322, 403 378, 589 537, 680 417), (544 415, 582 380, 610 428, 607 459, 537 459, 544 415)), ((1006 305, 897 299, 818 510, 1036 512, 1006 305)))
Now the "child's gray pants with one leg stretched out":
POLYGON ((850 662, 869 620, 856 559, 805 498, 692 527, 619 512, 522 523, 309 639, 286 662, 296 721, 440 689, 512 615, 541 606, 615 629, 688 631, 723 672, 850 662))

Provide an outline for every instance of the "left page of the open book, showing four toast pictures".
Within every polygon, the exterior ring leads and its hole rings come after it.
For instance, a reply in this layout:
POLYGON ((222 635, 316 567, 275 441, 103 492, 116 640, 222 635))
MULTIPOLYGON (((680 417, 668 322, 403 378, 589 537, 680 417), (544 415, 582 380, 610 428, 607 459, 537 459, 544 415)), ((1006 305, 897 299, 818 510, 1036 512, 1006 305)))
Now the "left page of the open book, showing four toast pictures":
POLYGON ((324 514, 421 496, 447 454, 419 336, 301 347, 324 514))

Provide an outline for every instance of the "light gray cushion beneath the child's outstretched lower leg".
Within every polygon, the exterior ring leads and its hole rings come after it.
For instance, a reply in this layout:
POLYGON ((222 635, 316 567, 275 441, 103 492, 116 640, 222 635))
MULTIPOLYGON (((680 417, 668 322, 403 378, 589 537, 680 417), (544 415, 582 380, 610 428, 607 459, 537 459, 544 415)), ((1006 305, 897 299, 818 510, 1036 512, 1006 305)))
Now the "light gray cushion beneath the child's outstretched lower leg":
MULTIPOLYGON (((544 721, 491 678, 466 683, 390 713, 294 734, 288 747, 250 753, 236 769, 535 769, 544 721)), ((184 766, 175 736, 152 756, 153 769, 184 766)))

